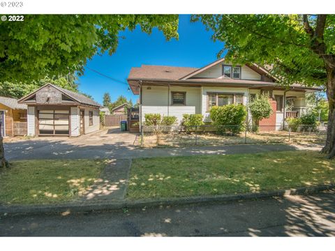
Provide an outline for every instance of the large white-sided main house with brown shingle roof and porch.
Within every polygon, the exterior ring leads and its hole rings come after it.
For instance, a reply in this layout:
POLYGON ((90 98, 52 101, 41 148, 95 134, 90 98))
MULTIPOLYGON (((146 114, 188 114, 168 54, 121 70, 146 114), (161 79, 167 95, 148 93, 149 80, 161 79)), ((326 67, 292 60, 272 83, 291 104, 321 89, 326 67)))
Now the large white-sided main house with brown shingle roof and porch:
POLYGON ((235 66, 225 59, 202 68, 142 65, 131 68, 127 80, 133 93, 140 95, 141 124, 144 114, 151 113, 176 116, 178 123, 183 114, 202 114, 204 121, 210 121, 209 110, 214 105, 248 105, 248 97, 268 93, 274 112, 260 126, 280 130, 286 117, 304 114, 307 92, 320 91, 299 84, 284 89, 265 68, 255 63, 235 66), (294 102, 290 111, 285 107, 289 99, 294 102))

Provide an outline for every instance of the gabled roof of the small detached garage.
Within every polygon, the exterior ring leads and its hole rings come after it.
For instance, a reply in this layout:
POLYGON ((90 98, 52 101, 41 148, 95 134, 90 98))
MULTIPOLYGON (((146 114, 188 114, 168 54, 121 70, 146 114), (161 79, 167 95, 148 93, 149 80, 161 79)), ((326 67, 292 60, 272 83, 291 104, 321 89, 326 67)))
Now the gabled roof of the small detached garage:
POLYGON ((61 93, 64 93, 66 96, 68 96, 69 98, 72 98, 73 100, 79 102, 82 105, 92 105, 92 106, 95 106, 95 107, 101 107, 101 105, 98 102, 92 100, 91 98, 88 98, 87 96, 84 96, 83 94, 75 93, 74 91, 69 91, 67 89, 61 88, 57 85, 50 84, 50 83, 45 84, 45 85, 41 86, 40 88, 38 88, 36 91, 33 91, 32 93, 29 93, 27 96, 25 96, 23 98, 20 98, 20 100, 18 100, 18 102, 21 102, 21 103, 24 102, 25 100, 27 100, 31 96, 34 96, 34 94, 37 91, 44 88, 45 86, 54 87, 55 89, 61 91, 61 93))

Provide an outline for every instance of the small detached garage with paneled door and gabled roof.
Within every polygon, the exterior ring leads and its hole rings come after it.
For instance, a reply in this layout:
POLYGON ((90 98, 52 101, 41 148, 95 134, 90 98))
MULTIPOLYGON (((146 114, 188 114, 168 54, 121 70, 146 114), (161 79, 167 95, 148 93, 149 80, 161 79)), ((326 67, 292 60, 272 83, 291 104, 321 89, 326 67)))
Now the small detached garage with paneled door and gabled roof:
POLYGON ((18 102, 28 106, 29 136, 80 136, 100 128, 101 105, 54 84, 45 84, 18 102))

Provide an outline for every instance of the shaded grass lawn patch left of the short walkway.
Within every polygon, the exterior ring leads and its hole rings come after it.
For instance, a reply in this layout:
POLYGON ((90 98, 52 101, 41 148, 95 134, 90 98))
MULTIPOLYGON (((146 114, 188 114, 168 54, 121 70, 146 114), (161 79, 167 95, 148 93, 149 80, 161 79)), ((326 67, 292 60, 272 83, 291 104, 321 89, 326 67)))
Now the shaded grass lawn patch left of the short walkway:
POLYGON ((0 172, 0 203, 49 204, 80 197, 101 173, 101 160, 24 160, 0 172))

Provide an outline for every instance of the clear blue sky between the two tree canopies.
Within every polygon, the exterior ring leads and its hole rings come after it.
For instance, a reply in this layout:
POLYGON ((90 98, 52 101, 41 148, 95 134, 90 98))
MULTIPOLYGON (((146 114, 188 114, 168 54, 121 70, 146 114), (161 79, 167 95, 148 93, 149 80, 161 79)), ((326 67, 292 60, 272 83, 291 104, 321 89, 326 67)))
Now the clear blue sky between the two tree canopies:
MULTIPOLYGON (((166 41, 158 29, 154 29, 150 35, 143 33, 140 28, 132 32, 122 32, 120 36, 124 36, 125 39, 119 40, 115 54, 94 56, 87 66, 126 83, 132 67, 150 64, 200 68, 215 61, 217 53, 223 47, 223 43, 214 43, 211 40, 211 32, 206 31, 203 24, 191 23, 190 15, 179 15, 178 33, 179 40, 166 41)), ((138 98, 128 91, 128 84, 114 82, 87 68, 78 82, 80 91, 90 94, 101 104, 105 92, 110 93, 112 101, 120 95, 131 98, 133 102, 138 98)))

